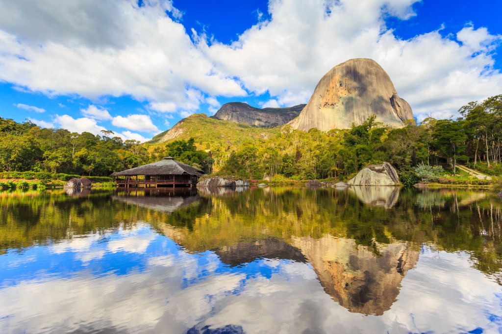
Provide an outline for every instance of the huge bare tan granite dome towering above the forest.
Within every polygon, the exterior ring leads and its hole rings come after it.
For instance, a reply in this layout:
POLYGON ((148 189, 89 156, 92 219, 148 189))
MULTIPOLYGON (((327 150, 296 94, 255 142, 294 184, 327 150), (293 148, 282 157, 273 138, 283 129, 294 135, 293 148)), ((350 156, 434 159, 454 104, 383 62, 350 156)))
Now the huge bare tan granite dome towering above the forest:
POLYGON ((398 96, 384 69, 372 59, 358 58, 326 73, 300 115, 289 124, 304 131, 313 127, 347 129, 373 114, 375 121, 395 127, 413 119, 410 105, 398 96))

